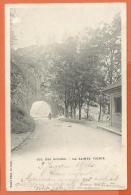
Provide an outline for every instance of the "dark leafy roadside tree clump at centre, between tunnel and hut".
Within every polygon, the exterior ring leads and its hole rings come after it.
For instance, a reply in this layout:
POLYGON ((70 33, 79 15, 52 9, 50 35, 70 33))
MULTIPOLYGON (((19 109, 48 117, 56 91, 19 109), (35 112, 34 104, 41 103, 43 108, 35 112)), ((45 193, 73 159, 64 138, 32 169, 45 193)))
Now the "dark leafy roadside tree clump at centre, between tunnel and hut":
POLYGON ((80 45, 78 41, 69 38, 64 43, 52 47, 48 56, 52 64, 48 77, 51 90, 63 100, 65 116, 75 118, 78 107, 81 120, 81 110, 87 92, 90 92, 91 88, 94 91, 98 90, 101 69, 96 48, 92 45, 80 45))

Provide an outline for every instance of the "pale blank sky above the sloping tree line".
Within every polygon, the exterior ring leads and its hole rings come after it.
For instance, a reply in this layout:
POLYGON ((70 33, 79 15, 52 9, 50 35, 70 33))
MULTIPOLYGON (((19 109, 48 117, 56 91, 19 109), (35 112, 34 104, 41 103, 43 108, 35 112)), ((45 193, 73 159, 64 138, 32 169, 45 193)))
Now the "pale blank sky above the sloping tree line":
POLYGON ((82 33, 85 28, 97 28, 111 23, 120 13, 121 3, 80 4, 20 4, 11 6, 16 48, 60 42, 68 36, 82 33))

